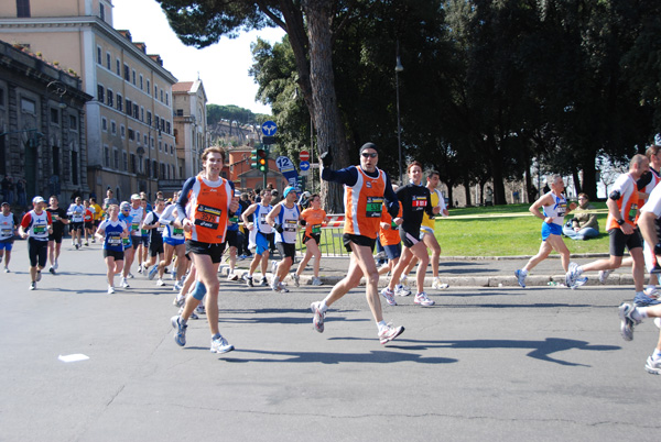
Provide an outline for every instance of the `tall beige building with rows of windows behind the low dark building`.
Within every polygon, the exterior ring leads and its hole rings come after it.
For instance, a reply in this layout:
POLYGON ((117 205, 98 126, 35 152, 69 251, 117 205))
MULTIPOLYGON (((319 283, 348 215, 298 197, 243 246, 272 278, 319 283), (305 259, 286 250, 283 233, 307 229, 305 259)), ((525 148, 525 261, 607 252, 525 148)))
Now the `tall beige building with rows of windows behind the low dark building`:
POLYGON ((112 26, 110 0, 0 2, 0 40, 29 47, 80 76, 86 104, 87 180, 128 199, 181 178, 172 86, 159 55, 112 26))

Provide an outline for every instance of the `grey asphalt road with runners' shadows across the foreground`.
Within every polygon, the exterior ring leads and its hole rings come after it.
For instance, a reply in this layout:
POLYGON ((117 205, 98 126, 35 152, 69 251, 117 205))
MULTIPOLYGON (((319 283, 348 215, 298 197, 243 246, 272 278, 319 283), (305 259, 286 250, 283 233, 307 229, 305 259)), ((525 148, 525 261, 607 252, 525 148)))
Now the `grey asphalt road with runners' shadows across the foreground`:
POLYGON ((380 345, 361 288, 319 334, 308 306, 328 286, 223 280, 236 351, 215 355, 205 317, 174 343, 172 281, 133 272, 132 288, 107 295, 99 245, 64 248, 35 291, 24 242, 0 275, 2 441, 659 440, 661 377, 644 371, 659 330, 619 335, 631 286, 451 287, 430 292, 432 308, 398 298, 384 314, 407 330, 380 345), (72 354, 89 360, 58 360, 72 354))

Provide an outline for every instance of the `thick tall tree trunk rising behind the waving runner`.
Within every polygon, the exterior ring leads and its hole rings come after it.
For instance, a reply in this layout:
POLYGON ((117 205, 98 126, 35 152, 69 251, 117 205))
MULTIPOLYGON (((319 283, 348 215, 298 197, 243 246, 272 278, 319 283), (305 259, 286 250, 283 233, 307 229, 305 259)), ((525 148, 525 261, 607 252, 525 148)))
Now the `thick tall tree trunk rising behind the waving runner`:
MULTIPOLYGON (((332 3, 326 0, 302 1, 307 19, 310 42, 310 82, 314 126, 317 131, 317 151, 330 151, 334 168, 349 165, 344 124, 337 107, 335 75, 333 73, 332 3)), ((344 212, 343 188, 337 184, 322 183, 322 199, 329 213, 344 212)))

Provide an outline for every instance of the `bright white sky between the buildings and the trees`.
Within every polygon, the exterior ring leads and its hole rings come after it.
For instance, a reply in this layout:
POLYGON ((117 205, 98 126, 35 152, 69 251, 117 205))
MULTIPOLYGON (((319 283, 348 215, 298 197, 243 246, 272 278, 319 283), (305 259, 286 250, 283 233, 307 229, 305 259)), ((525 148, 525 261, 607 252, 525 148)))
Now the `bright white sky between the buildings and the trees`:
POLYGON ((199 76, 209 104, 236 104, 254 113, 271 113, 271 107, 254 100, 258 85, 248 75, 252 66, 250 44, 260 36, 271 44, 284 36, 280 27, 221 37, 204 49, 185 46, 170 29, 155 0, 113 0, 113 27, 129 30, 133 42, 143 42, 148 54, 160 54, 163 67, 180 81, 199 76))

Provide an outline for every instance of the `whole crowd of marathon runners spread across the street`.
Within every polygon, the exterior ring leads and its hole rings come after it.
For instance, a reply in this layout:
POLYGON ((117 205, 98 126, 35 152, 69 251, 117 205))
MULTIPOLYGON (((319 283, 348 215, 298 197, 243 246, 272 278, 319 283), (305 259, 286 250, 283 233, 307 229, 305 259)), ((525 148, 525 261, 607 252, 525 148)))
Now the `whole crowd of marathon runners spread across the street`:
MULTIPOLYGON (((130 289, 129 280, 134 277, 131 268, 136 262, 136 272, 150 280, 156 279, 159 287, 165 286, 163 279, 169 272, 176 291, 174 305, 180 307, 178 313, 171 318, 175 342, 181 346, 186 344, 187 321, 202 312, 208 320, 210 351, 226 353, 234 350, 218 329, 218 270, 226 248, 228 280, 239 279, 237 259, 252 251, 249 269, 242 276, 248 287, 269 286, 274 291, 288 292, 288 284, 296 287, 301 284, 301 275, 311 259, 311 283, 318 286, 322 285, 321 232, 327 217, 318 195, 300 195, 293 187, 285 188, 282 200, 277 203, 273 203, 270 189, 261 191, 250 205, 240 201, 234 184, 220 176, 223 155, 217 147, 207 148, 202 156, 203 170, 186 180, 183 189, 170 201, 158 194, 153 206, 144 194, 134 194, 130 201, 120 203, 112 197, 111 190, 108 190, 102 206, 94 198, 76 198, 68 209, 61 208, 54 196, 47 203, 37 196, 32 201, 33 210, 19 222, 10 206, 2 203, 0 261, 4 264, 4 272, 10 272, 14 235, 28 239, 29 288, 34 290, 48 263, 48 272, 57 272, 61 245, 68 228, 76 250, 97 240, 102 243, 108 294, 115 292, 117 276, 120 278, 119 287, 130 289), (292 272, 300 236, 305 254, 292 272), (248 242, 248 247, 245 242, 248 242), (280 259, 272 261, 269 281, 269 258, 274 251, 278 251, 280 259), (254 276, 258 269, 259 279, 254 276)), ((350 253, 350 263, 346 276, 329 294, 311 305, 312 321, 314 329, 323 332, 328 309, 365 278, 366 299, 377 336, 386 344, 403 333, 404 327, 386 322, 381 298, 388 305, 397 306, 395 296, 411 295, 405 284, 407 275, 415 265, 414 305, 434 305, 424 287, 430 263, 433 274, 431 289, 448 288, 438 278, 441 246, 434 234, 435 217, 446 217, 448 212, 442 194, 436 189, 440 183, 437 172, 427 172, 425 176, 423 165, 413 162, 407 168, 409 183, 398 187, 377 167, 379 151, 373 143, 362 145, 359 155, 359 165, 343 169, 333 168, 329 153, 321 156, 322 179, 342 184, 345 189, 343 243, 350 253), (377 242, 388 257, 381 267, 373 256, 377 242), (379 291, 380 275, 388 275, 389 279, 388 286, 379 291)), ((542 220, 542 242, 539 253, 523 268, 514 272, 519 285, 525 287, 529 272, 553 250, 561 255, 566 273, 565 285, 572 289, 587 281, 585 272, 598 272, 599 279, 605 281, 611 270, 629 265, 636 294, 632 302, 619 307, 624 339, 631 340, 635 325, 646 318, 657 318, 655 323, 661 328, 661 301, 658 299, 661 292, 657 288, 657 274, 661 273, 657 261, 657 256, 661 257, 661 186, 657 186, 661 181, 660 166, 661 146, 652 145, 647 155, 633 156, 629 172, 617 179, 607 199, 609 258, 581 266, 570 262, 570 251, 561 236, 564 218, 576 209, 576 205, 567 202, 562 177, 553 176, 550 179, 551 190, 530 207, 530 212, 542 220), (624 259, 625 248, 629 251, 630 258, 624 259), (648 288, 643 288, 646 267, 650 273, 648 288)), ((646 369, 661 374, 661 333, 646 369)))

